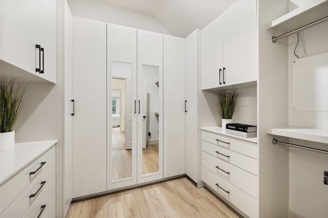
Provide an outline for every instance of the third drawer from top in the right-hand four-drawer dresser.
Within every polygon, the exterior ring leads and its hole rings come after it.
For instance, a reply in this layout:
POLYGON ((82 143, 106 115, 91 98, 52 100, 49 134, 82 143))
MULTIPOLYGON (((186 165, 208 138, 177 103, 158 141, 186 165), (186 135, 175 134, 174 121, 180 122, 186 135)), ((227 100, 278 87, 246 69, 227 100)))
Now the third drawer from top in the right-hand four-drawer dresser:
POLYGON ((257 176, 204 151, 201 164, 257 199, 257 176))

